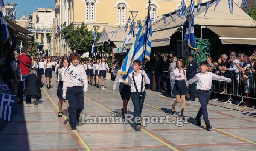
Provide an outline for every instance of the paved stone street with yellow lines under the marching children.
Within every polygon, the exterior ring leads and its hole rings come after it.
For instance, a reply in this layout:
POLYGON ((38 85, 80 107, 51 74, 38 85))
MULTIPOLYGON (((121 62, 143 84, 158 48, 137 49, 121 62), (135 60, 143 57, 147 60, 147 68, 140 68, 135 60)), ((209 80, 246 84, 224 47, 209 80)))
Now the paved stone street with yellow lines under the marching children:
MULTIPOLYGON (((55 76, 55 73, 53 74, 55 76)), ((85 108, 82 113, 90 116, 121 115, 122 101, 118 88, 112 90, 113 81, 105 82, 105 90, 89 86, 84 94, 85 108)), ((38 106, 23 103, 13 117, 0 131, 0 150, 255 150, 256 110, 252 108, 225 105, 209 101, 209 120, 214 129, 206 131, 197 126, 195 115, 200 108, 198 101, 185 104, 188 124, 149 123, 142 131, 135 132, 131 124, 80 124, 72 132, 68 123, 67 104, 65 116, 58 117, 58 83, 52 78, 52 89, 42 89, 42 100, 38 106)), ((146 91, 142 116, 165 116, 170 112, 174 99, 159 92, 146 91)), ((180 104, 175 112, 180 114, 180 104)), ((132 102, 128 113, 133 114, 132 102)), ((174 115, 174 116, 177 116, 174 115)), ((172 118, 175 120, 176 118, 172 118)), ((80 121, 82 119, 80 118, 80 121)), ((201 119, 202 123, 203 120, 201 119)))

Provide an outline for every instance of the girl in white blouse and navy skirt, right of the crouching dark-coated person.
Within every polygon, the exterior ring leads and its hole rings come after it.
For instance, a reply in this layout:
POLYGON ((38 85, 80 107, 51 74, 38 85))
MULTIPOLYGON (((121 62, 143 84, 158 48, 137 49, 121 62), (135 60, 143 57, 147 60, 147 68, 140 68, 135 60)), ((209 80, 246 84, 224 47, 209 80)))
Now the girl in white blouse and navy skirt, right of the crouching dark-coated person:
POLYGON ((52 81, 52 66, 57 65, 56 62, 52 62, 51 57, 47 57, 46 66, 44 68, 44 74, 46 77, 47 89, 50 89, 52 81))

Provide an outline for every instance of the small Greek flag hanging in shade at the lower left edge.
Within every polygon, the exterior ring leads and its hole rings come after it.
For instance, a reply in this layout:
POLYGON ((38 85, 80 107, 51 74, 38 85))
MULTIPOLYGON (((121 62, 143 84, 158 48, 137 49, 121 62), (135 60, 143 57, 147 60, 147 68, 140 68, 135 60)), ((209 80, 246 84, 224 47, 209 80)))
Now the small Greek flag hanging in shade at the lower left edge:
POLYGON ((15 95, 0 93, 0 119, 12 122, 15 95))

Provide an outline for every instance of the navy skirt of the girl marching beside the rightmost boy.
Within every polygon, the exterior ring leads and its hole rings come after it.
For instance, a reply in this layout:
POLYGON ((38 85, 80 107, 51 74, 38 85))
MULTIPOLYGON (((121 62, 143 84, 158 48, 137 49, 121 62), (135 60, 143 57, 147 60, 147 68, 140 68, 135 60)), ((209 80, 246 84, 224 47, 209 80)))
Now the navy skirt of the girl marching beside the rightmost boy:
POLYGON ((172 95, 186 95, 187 93, 189 93, 189 90, 186 87, 185 80, 176 80, 172 90, 172 95))

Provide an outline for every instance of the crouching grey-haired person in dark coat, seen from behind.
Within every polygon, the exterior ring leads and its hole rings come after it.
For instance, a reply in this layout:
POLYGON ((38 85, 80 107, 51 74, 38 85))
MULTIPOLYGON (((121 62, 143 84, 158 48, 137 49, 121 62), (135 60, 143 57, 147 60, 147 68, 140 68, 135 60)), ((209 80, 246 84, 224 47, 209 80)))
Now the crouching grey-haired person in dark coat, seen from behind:
POLYGON ((31 98, 34 98, 34 104, 38 105, 38 100, 42 97, 41 89, 43 84, 41 78, 36 75, 36 70, 31 70, 30 75, 26 76, 26 87, 24 89, 24 95, 26 95, 26 104, 31 103, 31 98))

